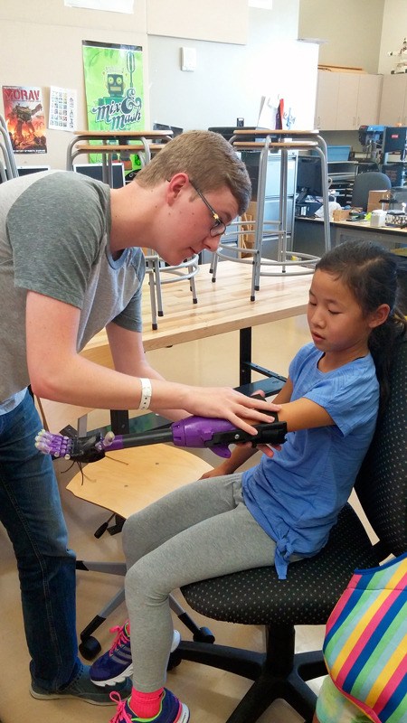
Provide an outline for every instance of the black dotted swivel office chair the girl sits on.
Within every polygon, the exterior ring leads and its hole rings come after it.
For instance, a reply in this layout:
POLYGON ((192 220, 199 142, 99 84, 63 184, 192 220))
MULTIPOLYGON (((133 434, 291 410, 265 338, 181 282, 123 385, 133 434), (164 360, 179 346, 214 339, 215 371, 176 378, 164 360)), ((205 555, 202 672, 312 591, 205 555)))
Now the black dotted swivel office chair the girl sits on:
POLYGON ((379 539, 373 544, 349 504, 327 546, 289 566, 288 579, 256 568, 183 587, 192 608, 231 623, 265 625, 267 649, 255 653, 218 644, 182 642, 171 664, 201 662, 254 683, 226 723, 254 723, 282 698, 310 721, 316 695, 305 681, 326 674, 322 653, 294 653, 294 625, 326 624, 355 568, 371 568, 407 549, 407 340, 393 364, 391 397, 358 474, 355 491, 379 539))

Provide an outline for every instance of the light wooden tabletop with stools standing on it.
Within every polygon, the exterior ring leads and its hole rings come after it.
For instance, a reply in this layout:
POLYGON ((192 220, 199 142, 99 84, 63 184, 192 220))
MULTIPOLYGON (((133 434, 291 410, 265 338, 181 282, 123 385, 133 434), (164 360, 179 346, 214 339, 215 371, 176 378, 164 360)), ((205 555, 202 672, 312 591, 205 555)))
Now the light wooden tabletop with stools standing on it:
MULTIPOLYGON (((216 282, 209 264, 195 276, 198 303, 193 304, 188 281, 162 286, 164 316, 151 328, 150 295, 143 294, 143 340, 146 351, 238 331, 259 324, 305 314, 310 277, 262 277, 256 301, 251 302, 251 263, 222 261, 216 282)), ((107 334, 103 330, 81 352, 92 362, 111 366, 107 334)))

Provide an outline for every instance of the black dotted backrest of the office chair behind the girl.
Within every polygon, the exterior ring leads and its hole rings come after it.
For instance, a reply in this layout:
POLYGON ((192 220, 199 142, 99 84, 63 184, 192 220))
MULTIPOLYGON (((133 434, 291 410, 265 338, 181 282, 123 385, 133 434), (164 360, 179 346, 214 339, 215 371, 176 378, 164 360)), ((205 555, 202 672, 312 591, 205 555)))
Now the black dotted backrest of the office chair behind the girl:
POLYGON ((383 557, 407 549, 407 339, 393 361, 390 398, 357 476, 355 491, 383 557))

